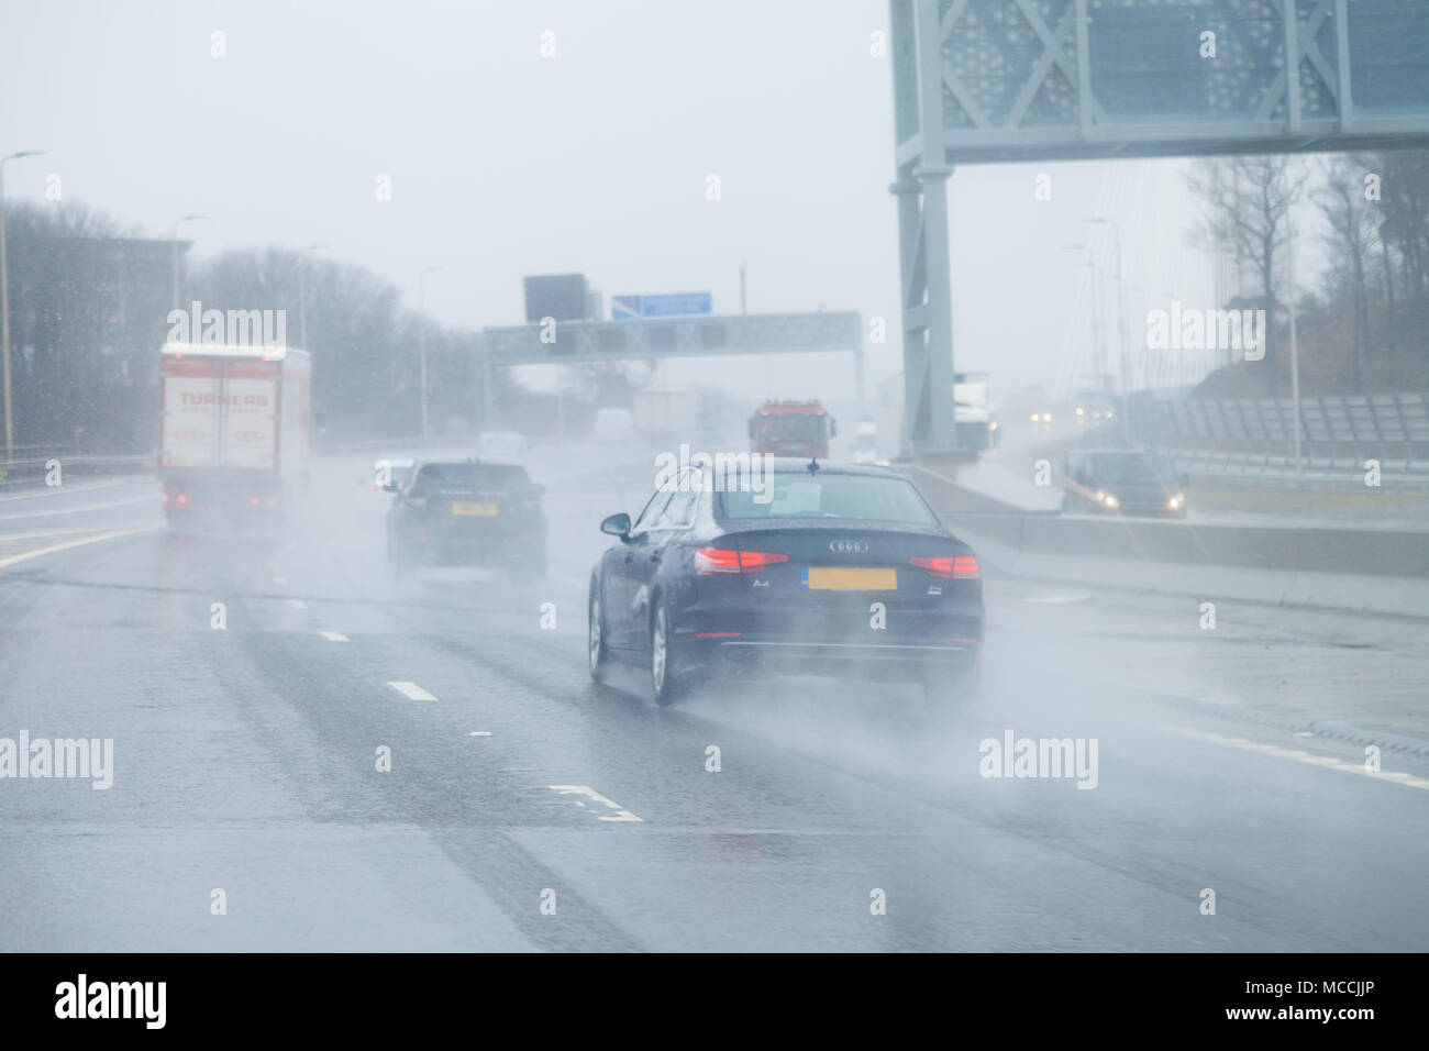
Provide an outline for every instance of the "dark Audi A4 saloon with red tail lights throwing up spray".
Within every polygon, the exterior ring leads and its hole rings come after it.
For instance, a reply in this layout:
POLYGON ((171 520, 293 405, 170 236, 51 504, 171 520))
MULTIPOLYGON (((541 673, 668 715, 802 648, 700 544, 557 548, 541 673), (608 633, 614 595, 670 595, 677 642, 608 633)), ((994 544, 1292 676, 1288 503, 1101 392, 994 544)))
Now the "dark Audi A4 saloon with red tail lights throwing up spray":
MULTIPOLYGON (((976 694, 977 556, 899 470, 775 459, 745 488, 690 468, 590 575, 590 675, 643 665, 659 704, 697 682, 815 673, 976 694), (756 485, 757 482, 757 485, 756 485)), ((726 479, 727 480, 727 479, 726 479)))

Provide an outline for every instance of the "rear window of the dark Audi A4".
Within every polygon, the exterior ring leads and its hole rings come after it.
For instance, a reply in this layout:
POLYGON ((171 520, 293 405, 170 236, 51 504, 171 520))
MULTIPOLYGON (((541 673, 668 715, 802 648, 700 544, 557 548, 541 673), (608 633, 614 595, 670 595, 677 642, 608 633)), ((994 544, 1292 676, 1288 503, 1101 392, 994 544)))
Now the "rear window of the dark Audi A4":
POLYGON ((719 493, 722 519, 827 518, 900 525, 939 525, 910 482, 877 475, 776 473, 719 493))

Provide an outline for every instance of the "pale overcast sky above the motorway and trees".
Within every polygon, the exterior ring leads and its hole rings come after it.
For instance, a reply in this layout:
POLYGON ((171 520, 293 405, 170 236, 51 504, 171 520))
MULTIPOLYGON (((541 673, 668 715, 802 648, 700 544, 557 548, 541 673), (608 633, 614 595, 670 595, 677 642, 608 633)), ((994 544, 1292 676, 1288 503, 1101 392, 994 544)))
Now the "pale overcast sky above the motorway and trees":
MULTIPOLYGON (((54 173, 67 200, 156 237, 207 213, 184 227, 200 259, 322 243, 413 305, 417 273, 442 266, 427 309, 464 326, 522 323, 530 273, 583 272, 607 312, 613 295, 696 290, 737 312, 745 259, 750 312, 890 319, 872 389, 902 367, 892 73, 870 56, 886 27, 883 0, 6 0, 0 153, 49 152, 9 164, 6 190, 43 200, 54 173)), ((1152 306, 1213 306, 1210 260, 1185 247, 1182 170, 959 169, 956 367, 990 372, 995 393, 1067 373, 1087 293, 1062 246, 1090 237, 1115 270, 1109 232, 1085 216, 1119 220, 1129 285, 1152 306), (1039 172, 1050 202, 1033 196, 1039 172)), ((840 399, 852 376, 800 356, 773 386, 840 399)), ((696 379, 765 390, 747 359, 670 369, 696 379)))

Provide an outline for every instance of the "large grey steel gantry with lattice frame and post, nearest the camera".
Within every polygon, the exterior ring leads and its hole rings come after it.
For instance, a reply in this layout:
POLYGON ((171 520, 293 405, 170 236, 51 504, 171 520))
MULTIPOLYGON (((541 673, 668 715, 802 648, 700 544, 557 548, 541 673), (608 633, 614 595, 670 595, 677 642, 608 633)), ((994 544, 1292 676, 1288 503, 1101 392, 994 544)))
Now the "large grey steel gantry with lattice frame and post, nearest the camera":
POLYGON ((953 440, 952 166, 1429 144, 1429 0, 890 0, 889 11, 915 445, 953 440))

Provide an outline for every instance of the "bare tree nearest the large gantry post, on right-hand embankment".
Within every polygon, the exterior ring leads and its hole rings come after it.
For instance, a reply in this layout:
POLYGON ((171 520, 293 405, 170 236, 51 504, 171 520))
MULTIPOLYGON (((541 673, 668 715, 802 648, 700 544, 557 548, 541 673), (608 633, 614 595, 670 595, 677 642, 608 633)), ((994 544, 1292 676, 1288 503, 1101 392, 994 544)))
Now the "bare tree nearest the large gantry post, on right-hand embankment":
POLYGON ((1265 299, 1265 362, 1279 365, 1275 339, 1279 252, 1285 247, 1286 217, 1305 189, 1306 170, 1285 154, 1213 157, 1200 162, 1186 184, 1200 199, 1202 223, 1193 242, 1229 250, 1249 260, 1260 277, 1265 299))

